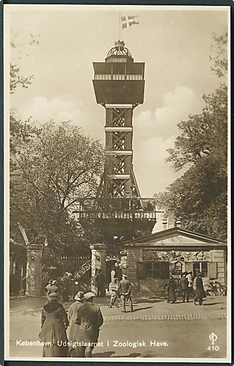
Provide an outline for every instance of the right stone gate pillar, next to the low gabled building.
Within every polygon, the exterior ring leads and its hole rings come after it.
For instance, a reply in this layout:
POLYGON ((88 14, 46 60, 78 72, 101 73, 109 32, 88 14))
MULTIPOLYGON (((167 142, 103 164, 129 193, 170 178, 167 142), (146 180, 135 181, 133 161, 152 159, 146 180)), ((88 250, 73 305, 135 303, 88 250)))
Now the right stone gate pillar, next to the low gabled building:
POLYGON ((97 294, 96 275, 98 269, 102 270, 103 275, 106 277, 106 251, 105 244, 91 244, 91 291, 97 294))

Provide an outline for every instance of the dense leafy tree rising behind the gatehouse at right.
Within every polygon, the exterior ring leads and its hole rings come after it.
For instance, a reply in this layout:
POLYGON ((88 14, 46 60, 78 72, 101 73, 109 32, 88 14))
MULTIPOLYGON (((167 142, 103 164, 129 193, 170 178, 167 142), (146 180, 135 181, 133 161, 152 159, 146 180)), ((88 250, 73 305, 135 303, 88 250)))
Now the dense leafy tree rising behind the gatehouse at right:
MULTIPOLYGON (((214 36, 213 66, 225 78, 227 35, 214 36)), ((181 130, 166 161, 174 170, 188 170, 165 192, 156 194, 157 205, 165 210, 173 205, 182 226, 214 237, 227 235, 227 85, 204 95, 201 114, 189 115, 178 124, 181 130)))

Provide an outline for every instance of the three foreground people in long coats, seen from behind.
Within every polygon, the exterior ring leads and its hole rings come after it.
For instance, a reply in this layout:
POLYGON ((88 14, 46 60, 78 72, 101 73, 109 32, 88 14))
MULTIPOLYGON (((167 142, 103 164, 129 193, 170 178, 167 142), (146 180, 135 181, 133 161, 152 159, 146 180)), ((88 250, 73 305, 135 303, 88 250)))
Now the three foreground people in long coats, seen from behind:
MULTIPOLYGON (((55 286, 56 287, 56 286, 55 286)), ((48 294, 42 309, 40 341, 43 357, 91 357, 98 341, 103 315, 92 292, 78 291, 68 314, 58 302, 58 292, 48 294), (66 332, 68 329, 68 334, 66 332)))

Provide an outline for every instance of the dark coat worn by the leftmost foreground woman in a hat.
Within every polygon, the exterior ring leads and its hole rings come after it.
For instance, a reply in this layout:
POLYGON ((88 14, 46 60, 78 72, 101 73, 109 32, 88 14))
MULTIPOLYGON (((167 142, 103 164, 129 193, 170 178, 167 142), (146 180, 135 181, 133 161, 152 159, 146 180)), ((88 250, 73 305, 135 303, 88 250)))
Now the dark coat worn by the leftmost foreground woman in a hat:
POLYGON ((57 346, 57 341, 68 341, 66 327, 68 316, 59 302, 49 302, 42 309, 41 315, 41 342, 51 342, 57 346))

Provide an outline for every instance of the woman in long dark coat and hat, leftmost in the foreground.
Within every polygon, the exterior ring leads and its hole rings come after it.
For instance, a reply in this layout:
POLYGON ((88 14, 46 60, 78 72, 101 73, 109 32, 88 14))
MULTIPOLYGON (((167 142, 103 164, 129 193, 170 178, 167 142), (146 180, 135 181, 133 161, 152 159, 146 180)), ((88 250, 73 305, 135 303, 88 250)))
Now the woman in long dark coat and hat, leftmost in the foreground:
POLYGON ((41 316, 41 342, 50 342, 51 345, 43 346, 43 357, 67 357, 68 342, 66 328, 69 325, 68 316, 62 304, 57 300, 59 295, 51 293, 48 295, 48 303, 42 309, 41 316))

